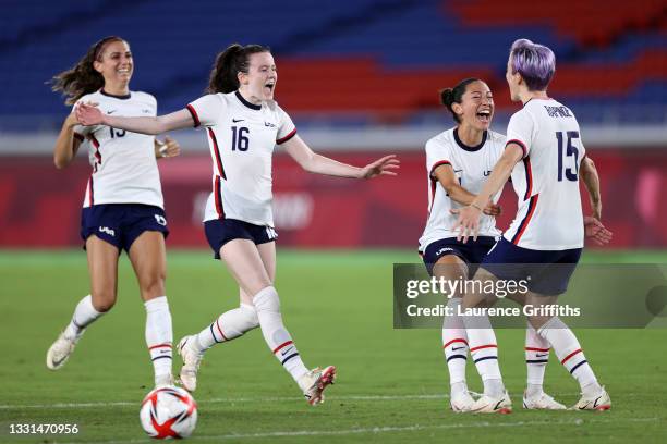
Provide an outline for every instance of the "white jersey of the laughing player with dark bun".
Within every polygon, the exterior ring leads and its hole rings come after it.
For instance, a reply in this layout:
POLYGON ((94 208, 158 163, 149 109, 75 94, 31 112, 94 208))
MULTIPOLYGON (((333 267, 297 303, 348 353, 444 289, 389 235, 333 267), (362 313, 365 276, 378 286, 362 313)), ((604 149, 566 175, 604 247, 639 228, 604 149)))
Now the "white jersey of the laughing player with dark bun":
MULTIPOLYGON (((461 186, 472 194, 477 194, 504 149, 505 136, 493 131, 485 132, 482 143, 476 147, 465 146, 459 139, 457 128, 440 133, 426 143, 428 221, 420 238, 420 251, 426 250, 428 244, 435 240, 458 235, 452 231, 458 217, 449 210, 463 206, 449 198, 434 175, 436 168, 442 164, 451 165, 461 186)), ((501 190, 494 196, 494 202, 498 201, 500 193, 501 190)), ((482 214, 478 235, 494 237, 500 235, 494 217, 482 214)))

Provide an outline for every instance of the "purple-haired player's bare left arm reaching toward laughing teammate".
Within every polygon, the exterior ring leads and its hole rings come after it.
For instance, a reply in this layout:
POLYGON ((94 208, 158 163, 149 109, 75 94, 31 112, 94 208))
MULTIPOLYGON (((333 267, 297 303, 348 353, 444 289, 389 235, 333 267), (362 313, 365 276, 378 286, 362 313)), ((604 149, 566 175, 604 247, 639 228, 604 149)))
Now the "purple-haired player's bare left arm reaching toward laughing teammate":
POLYGON ((477 239, 477 231, 480 230, 480 214, 484 210, 486 202, 493 195, 495 195, 501 186, 505 185, 512 169, 521 160, 523 156, 523 148, 519 144, 509 143, 505 147, 505 152, 500 156, 500 159, 494 165, 488 180, 484 183, 482 190, 477 197, 465 208, 460 210, 451 210, 454 214, 459 214, 459 220, 453 226, 453 231, 459 231, 457 239, 463 239, 463 243, 468 242, 469 236, 473 236, 473 239, 477 239))

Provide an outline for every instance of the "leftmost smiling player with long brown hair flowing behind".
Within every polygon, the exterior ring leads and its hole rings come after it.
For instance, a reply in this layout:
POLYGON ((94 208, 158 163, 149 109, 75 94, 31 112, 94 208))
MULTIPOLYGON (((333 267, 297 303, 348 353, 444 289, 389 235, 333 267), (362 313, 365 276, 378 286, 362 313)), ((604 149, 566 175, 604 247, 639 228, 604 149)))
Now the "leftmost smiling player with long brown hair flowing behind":
MULTIPOLYGON (((156 115, 155 97, 130 90, 133 72, 129 44, 107 37, 92 46, 74 67, 58 74, 53 90, 63 91, 66 104, 95 102, 107 115, 156 115)), ((156 157, 178 156, 179 145, 102 125, 81 126, 72 112, 56 141, 56 166, 69 165, 84 140, 89 144, 93 166, 81 217, 90 294, 76 305, 72 320, 49 348, 47 367, 60 369, 86 328, 116 304, 118 259, 124 249, 146 307, 146 345, 155 384, 172 384, 171 313, 165 296, 169 230, 156 157)))

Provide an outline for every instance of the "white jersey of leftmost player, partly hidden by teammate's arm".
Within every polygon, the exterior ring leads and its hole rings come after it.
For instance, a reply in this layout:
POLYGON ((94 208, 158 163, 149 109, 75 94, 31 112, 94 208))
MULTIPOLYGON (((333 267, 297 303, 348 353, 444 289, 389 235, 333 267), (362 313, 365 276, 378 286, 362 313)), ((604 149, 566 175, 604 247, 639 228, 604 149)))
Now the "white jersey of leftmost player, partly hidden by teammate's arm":
MULTIPOLYGON (((146 92, 112 96, 99 90, 78 101, 99 103, 100 111, 110 115, 157 115, 157 101, 146 92)), ((84 208, 99 203, 163 207, 154 136, 94 125, 75 126, 74 137, 89 143, 88 158, 93 173, 86 187, 84 208)))

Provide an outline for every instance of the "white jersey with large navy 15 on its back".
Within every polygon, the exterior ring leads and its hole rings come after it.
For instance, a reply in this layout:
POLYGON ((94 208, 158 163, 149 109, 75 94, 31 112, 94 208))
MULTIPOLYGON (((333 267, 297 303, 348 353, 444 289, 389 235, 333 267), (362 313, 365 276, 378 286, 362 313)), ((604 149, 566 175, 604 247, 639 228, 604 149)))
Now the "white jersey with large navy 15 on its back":
POLYGON ((585 149, 572 111, 553 99, 532 99, 510 119, 507 140, 522 147, 523 160, 512 170, 519 210, 505 238, 530 249, 582 248, 579 165, 585 149))

